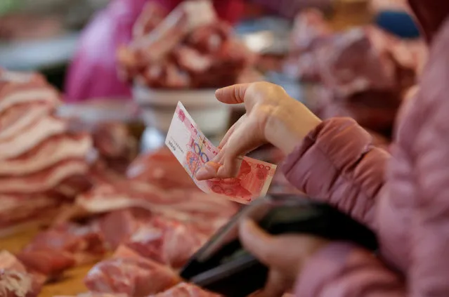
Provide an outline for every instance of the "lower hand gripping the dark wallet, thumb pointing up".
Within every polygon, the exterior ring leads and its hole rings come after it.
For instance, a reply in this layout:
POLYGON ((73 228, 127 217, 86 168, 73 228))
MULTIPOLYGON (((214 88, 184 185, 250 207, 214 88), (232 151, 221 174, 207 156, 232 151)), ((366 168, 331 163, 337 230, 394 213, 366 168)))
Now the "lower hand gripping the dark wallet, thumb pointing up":
POLYGON ((329 244, 308 235, 268 235, 252 220, 243 220, 239 231, 245 249, 269 268, 265 288, 254 297, 281 297, 292 290, 308 258, 329 244))

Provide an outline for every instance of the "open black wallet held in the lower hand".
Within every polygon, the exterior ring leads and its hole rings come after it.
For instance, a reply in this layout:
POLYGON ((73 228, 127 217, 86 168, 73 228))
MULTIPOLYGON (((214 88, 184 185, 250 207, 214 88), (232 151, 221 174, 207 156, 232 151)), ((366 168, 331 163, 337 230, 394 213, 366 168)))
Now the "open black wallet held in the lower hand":
POLYGON ((223 296, 245 297, 262 289, 268 268, 240 244, 238 223, 242 218, 256 221, 272 235, 308 234, 377 250, 371 230, 332 206, 305 196, 275 195, 256 199, 231 218, 190 258, 181 277, 223 296))

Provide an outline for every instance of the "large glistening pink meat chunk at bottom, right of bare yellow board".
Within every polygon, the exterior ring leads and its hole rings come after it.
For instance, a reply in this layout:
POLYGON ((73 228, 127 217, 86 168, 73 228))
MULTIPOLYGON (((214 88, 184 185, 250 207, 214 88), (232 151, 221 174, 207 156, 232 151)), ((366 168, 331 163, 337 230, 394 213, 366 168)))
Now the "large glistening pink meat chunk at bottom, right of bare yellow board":
POLYGON ((138 256, 123 246, 117 249, 112 259, 95 265, 84 279, 91 291, 126 293, 131 297, 160 293, 179 281, 169 268, 138 256))

